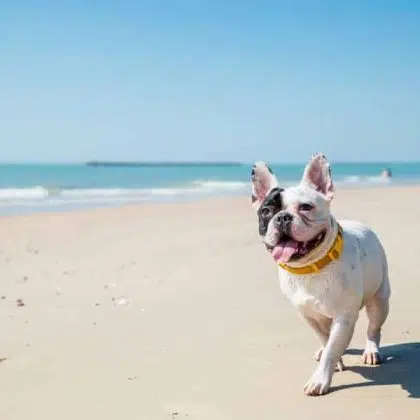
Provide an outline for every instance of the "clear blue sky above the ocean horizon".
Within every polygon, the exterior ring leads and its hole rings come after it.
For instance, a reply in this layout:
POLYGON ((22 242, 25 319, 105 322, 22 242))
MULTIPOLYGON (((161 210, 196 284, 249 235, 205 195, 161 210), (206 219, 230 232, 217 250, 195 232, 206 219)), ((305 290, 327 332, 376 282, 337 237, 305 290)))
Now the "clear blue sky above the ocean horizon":
POLYGON ((1 161, 420 160, 418 1, 7 3, 1 161))

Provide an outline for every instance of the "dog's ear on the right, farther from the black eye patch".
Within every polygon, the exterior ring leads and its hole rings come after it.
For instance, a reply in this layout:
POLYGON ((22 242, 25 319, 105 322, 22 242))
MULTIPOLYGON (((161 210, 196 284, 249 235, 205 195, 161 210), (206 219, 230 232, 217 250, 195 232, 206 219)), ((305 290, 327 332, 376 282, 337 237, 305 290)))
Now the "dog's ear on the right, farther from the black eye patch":
POLYGON ((312 156, 306 165, 301 183, 311 186, 323 194, 328 201, 334 198, 330 164, 324 154, 316 153, 312 156))

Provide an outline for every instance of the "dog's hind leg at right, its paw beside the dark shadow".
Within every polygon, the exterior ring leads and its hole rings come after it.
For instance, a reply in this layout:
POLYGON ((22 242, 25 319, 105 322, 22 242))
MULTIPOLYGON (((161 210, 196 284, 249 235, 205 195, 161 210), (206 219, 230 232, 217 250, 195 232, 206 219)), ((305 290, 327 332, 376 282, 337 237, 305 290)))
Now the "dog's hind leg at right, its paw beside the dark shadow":
POLYGON ((386 278, 376 294, 366 302, 366 314, 369 324, 366 347, 363 352, 363 363, 368 365, 378 365, 382 362, 379 345, 381 328, 389 312, 389 296, 390 287, 388 278, 386 278))

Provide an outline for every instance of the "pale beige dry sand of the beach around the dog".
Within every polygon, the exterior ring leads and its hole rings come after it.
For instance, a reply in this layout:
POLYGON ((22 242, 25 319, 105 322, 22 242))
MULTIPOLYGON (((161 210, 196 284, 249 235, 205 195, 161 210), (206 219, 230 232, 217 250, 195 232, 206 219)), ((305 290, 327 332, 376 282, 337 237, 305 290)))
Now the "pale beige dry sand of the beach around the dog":
POLYGON ((0 419, 420 419, 419 197, 338 192, 388 251, 389 360, 361 364, 363 313, 318 398, 249 198, 0 218, 0 419))

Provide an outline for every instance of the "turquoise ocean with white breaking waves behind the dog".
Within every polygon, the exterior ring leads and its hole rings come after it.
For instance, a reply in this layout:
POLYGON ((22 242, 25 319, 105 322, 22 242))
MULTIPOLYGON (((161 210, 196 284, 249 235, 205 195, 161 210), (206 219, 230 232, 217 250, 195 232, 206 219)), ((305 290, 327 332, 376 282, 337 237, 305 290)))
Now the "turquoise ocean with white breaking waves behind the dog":
MULTIPOLYGON (((304 164, 270 164, 279 182, 296 183, 304 164)), ((133 166, 1 164, 0 214, 60 211, 148 201, 250 194, 252 164, 133 166)), ((336 188, 420 184, 419 163, 333 163, 336 188), (391 180, 380 174, 390 168, 391 180)))

